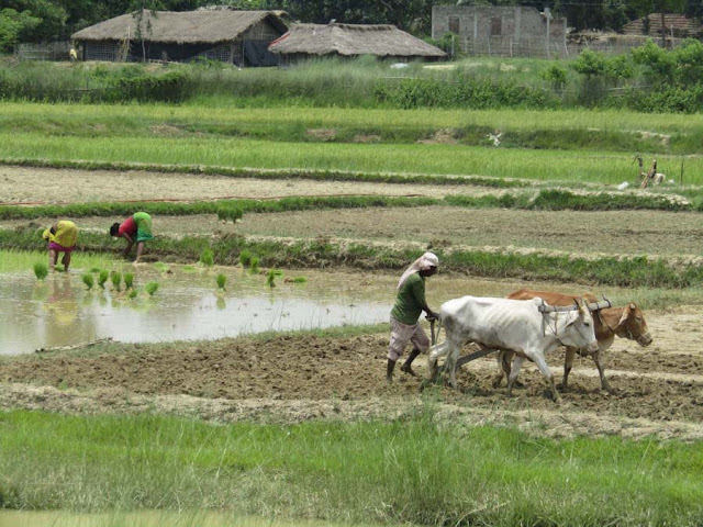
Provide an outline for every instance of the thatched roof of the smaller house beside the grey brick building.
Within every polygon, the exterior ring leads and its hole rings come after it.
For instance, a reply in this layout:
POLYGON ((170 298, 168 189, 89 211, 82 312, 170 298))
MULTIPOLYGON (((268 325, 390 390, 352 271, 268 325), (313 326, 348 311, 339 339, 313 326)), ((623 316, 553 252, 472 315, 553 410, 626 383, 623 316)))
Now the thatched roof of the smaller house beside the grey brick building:
POLYGON ((378 55, 381 57, 444 57, 438 47, 394 25, 295 24, 274 41, 271 53, 309 55, 378 55))

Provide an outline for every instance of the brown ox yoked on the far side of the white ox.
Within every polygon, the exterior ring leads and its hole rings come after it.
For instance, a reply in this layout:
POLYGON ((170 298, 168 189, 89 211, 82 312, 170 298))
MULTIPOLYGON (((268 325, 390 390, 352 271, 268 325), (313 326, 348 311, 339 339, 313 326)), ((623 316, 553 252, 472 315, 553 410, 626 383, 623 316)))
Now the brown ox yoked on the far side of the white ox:
MULTIPOLYGON (((529 289, 521 289, 507 295, 512 300, 529 300, 535 296, 539 296, 550 305, 572 305, 574 300, 581 299, 581 296, 572 294, 555 293, 549 291, 533 291, 529 289)), ((598 299, 593 294, 584 294, 582 296, 589 303, 598 302, 598 299)), ((601 375, 601 388, 609 392, 612 391, 611 385, 605 379, 605 371, 603 370, 603 355, 613 345, 615 335, 621 338, 627 338, 635 340, 640 346, 649 346, 651 344, 651 336, 647 329, 647 323, 645 322, 645 315, 641 310, 631 302, 625 307, 605 307, 599 310, 593 316, 593 329, 595 330, 595 339, 598 340, 599 351, 592 354, 593 361, 598 368, 598 372, 601 375)), ((566 390, 569 380, 569 372, 573 366, 573 358, 576 354, 584 357, 588 354, 584 350, 567 346, 567 356, 563 363, 563 382, 562 388, 566 390)), ((513 359, 512 351, 501 351, 498 354, 499 373, 493 380, 493 386, 499 386, 503 373, 510 374, 510 365, 513 359)))

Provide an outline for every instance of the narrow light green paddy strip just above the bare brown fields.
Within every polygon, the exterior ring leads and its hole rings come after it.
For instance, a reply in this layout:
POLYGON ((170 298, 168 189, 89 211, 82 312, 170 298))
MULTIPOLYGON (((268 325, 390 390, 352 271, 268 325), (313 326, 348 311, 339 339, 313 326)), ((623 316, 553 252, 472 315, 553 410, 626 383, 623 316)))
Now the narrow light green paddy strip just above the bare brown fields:
MULTIPOLYGON (((62 137, 42 134, 0 134, 0 157, 83 159, 108 162, 207 165, 267 169, 346 170, 479 175, 542 181, 620 183, 633 181, 637 167, 632 154, 583 150, 527 150, 446 144, 321 144, 276 143, 214 137, 62 137)), ((659 169, 677 176, 679 156, 658 156, 659 169)), ((685 159, 684 183, 703 184, 703 158, 685 159)))

